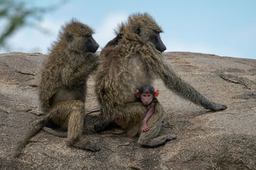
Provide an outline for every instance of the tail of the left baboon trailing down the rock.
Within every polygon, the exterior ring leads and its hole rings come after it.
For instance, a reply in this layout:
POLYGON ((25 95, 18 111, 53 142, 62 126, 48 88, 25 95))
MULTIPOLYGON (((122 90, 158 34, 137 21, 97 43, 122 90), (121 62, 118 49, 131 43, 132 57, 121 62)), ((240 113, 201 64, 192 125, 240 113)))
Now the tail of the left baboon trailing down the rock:
POLYGON ((26 134, 25 138, 22 141, 20 141, 20 143, 18 144, 12 157, 19 156, 21 150, 26 146, 29 139, 32 138, 37 132, 39 132, 45 126, 47 120, 48 120, 47 118, 43 118, 42 120, 39 120, 38 122, 36 122, 35 125, 33 125, 30 131, 26 134))

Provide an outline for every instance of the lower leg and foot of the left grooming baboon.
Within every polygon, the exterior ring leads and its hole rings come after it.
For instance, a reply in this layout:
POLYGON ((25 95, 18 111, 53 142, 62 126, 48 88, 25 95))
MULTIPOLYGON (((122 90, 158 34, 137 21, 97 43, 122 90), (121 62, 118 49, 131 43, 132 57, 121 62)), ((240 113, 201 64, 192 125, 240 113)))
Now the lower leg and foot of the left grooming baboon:
POLYGON ((99 151, 99 148, 90 141, 81 139, 83 132, 84 103, 76 101, 69 106, 72 108, 68 118, 68 145, 76 148, 99 151))

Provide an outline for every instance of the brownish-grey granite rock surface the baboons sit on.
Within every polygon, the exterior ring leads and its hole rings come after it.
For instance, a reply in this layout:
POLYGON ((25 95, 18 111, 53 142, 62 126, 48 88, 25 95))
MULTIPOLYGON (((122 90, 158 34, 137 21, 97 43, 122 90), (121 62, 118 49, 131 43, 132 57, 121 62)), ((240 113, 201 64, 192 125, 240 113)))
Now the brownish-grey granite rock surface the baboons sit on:
MULTIPOLYGON (((156 79, 166 117, 160 134, 177 139, 157 148, 141 148, 118 131, 93 132, 99 106, 88 80, 83 138, 101 148, 70 148, 65 138, 40 131, 17 159, 10 154, 29 127, 44 114, 37 85, 46 55, 0 54, 0 169, 256 169, 256 60, 203 53, 167 52, 164 58, 211 101, 227 104, 209 111, 186 101, 156 79)), ((115 129, 114 129, 115 130, 115 129)))

